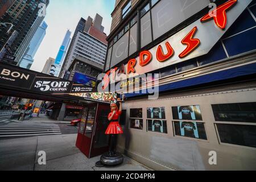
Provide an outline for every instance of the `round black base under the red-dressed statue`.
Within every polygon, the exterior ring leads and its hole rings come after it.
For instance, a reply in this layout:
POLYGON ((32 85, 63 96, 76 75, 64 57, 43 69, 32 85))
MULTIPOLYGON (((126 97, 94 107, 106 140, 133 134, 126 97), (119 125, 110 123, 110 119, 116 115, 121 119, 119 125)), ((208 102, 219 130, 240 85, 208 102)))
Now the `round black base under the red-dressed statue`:
POLYGON ((123 155, 117 152, 116 154, 109 155, 109 152, 106 152, 101 156, 101 160, 96 163, 96 167, 104 166, 117 166, 123 163, 123 155))

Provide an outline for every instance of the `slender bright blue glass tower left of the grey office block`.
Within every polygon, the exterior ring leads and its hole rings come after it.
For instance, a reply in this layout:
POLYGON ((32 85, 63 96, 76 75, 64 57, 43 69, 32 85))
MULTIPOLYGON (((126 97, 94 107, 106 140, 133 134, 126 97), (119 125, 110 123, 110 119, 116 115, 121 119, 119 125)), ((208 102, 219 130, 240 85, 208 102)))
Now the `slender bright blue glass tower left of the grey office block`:
POLYGON ((68 30, 60 46, 59 52, 57 53, 55 63, 52 66, 52 71, 50 72, 50 75, 56 76, 56 77, 59 76, 60 69, 63 64, 65 55, 68 51, 68 46, 70 42, 71 42, 71 31, 68 30))

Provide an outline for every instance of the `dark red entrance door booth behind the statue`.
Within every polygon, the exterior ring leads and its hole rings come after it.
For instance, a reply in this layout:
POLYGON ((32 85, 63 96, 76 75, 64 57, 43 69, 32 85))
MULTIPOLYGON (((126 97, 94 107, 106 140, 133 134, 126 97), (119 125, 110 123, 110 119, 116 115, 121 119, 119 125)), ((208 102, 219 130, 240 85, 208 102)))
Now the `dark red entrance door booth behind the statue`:
POLYGON ((109 105, 93 104, 86 106, 77 134, 76 146, 88 158, 108 151, 109 139, 105 135, 108 127, 109 105))

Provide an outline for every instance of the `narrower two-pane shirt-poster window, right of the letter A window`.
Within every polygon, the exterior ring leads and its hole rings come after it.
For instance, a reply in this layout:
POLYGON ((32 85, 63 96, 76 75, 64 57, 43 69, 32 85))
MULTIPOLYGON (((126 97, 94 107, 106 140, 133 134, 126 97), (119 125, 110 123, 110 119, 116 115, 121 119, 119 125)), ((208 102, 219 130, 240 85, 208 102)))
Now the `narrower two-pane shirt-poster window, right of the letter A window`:
POLYGON ((147 131, 167 133, 166 111, 164 107, 147 108, 147 131))

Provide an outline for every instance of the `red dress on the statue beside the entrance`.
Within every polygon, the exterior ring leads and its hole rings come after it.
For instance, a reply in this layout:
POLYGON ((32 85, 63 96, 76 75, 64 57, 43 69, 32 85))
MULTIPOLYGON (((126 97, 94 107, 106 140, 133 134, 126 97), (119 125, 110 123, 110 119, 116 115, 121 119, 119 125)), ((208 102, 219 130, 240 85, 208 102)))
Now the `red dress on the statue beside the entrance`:
MULTIPOLYGON (((109 113, 108 118, 112 116, 113 112, 109 113)), ((119 115, 122 114, 122 111, 118 110, 114 114, 111 122, 109 123, 108 129, 106 129, 105 134, 111 135, 111 134, 123 134, 122 127, 119 125, 118 118, 119 115)))

